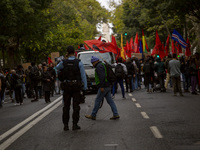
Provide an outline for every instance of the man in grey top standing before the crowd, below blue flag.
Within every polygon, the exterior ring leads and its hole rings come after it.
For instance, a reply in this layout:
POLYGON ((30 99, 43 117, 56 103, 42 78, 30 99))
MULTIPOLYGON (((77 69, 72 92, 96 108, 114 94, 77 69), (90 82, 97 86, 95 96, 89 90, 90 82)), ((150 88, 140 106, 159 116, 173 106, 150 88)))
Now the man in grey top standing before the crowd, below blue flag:
POLYGON ((169 70, 170 70, 170 76, 172 78, 173 83, 173 91, 174 96, 177 96, 176 93, 179 92, 180 96, 183 96, 182 90, 181 90, 181 64, 176 59, 176 54, 173 54, 173 59, 169 61, 169 70))

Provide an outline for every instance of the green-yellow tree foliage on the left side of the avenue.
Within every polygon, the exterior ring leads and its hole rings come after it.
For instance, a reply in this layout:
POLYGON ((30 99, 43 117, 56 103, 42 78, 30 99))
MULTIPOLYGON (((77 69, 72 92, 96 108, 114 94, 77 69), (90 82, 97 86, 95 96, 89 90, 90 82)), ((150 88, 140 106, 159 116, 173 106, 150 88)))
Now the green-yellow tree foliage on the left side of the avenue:
POLYGON ((64 54, 97 34, 109 12, 96 0, 1 0, 0 50, 9 67, 41 62, 54 51, 64 54))

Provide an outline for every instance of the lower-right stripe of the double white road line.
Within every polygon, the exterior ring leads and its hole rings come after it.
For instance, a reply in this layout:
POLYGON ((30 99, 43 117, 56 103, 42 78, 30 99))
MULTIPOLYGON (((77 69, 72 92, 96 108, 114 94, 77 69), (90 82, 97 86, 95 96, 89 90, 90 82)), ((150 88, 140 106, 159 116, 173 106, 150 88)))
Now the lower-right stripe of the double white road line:
POLYGON ((35 124, 37 124, 40 120, 42 120, 44 117, 46 117, 48 114, 50 114, 54 109, 56 109, 58 106, 62 104, 62 101, 55 104, 53 107, 51 107, 49 110, 45 111, 42 115, 37 117, 35 120, 27 124, 24 128, 19 130, 17 133, 15 133, 13 136, 11 136, 9 139, 7 139, 5 142, 3 142, 0 145, 1 150, 5 150, 8 146, 10 146, 14 141, 16 141, 20 136, 22 136, 25 132, 27 132, 29 129, 31 129, 35 124))

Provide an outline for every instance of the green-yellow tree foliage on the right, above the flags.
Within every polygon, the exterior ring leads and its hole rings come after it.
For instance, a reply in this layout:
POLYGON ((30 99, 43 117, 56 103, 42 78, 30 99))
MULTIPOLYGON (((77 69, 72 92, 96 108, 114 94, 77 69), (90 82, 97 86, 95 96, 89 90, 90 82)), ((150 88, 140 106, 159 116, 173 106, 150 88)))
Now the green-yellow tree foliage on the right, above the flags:
POLYGON ((128 32, 130 38, 136 32, 141 36, 143 29, 148 44, 153 48, 156 30, 165 42, 168 34, 177 29, 184 38, 189 37, 195 46, 200 46, 197 28, 200 24, 199 6, 200 2, 196 0, 122 0, 113 11, 114 32, 128 32))

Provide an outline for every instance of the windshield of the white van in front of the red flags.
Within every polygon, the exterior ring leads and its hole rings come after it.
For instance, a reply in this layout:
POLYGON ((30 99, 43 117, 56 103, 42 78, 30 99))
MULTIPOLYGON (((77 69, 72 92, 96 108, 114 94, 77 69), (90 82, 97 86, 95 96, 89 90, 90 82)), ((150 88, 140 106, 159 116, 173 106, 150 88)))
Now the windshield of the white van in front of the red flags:
POLYGON ((83 65, 85 66, 92 66, 91 63, 91 57, 95 56, 99 58, 100 61, 107 61, 109 64, 113 63, 112 55, 110 53, 96 53, 96 52, 91 52, 91 53, 80 53, 78 56, 83 65))

